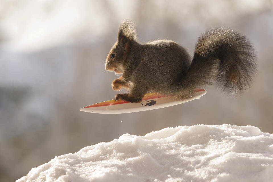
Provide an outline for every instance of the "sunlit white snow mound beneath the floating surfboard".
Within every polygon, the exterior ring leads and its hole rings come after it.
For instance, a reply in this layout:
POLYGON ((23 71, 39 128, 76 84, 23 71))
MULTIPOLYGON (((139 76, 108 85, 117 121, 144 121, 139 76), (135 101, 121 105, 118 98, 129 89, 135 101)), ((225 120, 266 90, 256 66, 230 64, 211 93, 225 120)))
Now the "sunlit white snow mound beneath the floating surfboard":
POLYGON ((271 181, 273 134, 254 126, 193 125, 56 156, 23 181, 271 181))

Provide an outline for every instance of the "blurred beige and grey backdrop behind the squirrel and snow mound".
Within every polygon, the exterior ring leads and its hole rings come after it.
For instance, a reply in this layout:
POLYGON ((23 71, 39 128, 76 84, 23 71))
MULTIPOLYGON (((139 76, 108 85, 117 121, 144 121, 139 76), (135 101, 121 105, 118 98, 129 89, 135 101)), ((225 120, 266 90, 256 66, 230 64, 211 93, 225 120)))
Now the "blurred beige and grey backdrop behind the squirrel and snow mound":
POLYGON ((224 123, 273 133, 272 6, 272 0, 1 0, 0 181, 125 133, 224 123), (79 111, 117 93, 111 82, 118 76, 104 62, 125 18, 135 22, 142 43, 171 39, 191 55, 206 29, 239 30, 257 50, 253 87, 236 99, 206 87, 199 100, 145 112, 79 111))

